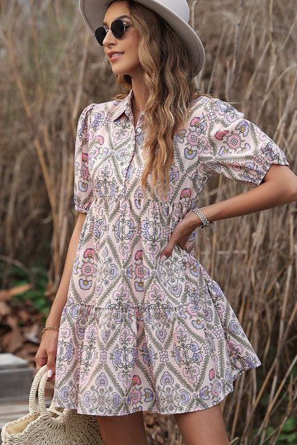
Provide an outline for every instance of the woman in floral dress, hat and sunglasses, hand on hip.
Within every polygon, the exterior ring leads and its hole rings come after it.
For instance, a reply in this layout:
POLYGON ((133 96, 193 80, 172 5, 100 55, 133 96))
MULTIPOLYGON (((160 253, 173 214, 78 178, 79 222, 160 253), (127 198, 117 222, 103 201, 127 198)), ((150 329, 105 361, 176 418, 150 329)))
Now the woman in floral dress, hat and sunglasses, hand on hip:
POLYGON ((79 119, 79 218, 37 367, 106 445, 146 444, 143 410, 174 414, 186 445, 228 444, 220 402, 260 361, 193 232, 296 200, 297 178, 258 127, 195 90, 204 51, 186 0, 81 0, 81 13, 121 94, 79 119), (198 209, 216 173, 254 188, 198 209))

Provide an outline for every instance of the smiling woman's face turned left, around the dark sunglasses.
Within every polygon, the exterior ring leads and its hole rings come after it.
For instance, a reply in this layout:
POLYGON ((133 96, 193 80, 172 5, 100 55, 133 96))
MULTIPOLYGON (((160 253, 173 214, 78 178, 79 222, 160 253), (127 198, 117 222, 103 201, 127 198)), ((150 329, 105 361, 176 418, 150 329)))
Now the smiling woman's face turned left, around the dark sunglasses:
MULTIPOLYGON (((109 6, 104 17, 104 26, 111 26, 111 23, 116 19, 132 21, 127 1, 116 1, 109 6)), ((126 28, 122 39, 116 39, 109 31, 103 44, 114 74, 117 76, 128 74, 132 79, 136 79, 136 76, 143 76, 144 71, 141 69, 138 54, 139 33, 133 24, 126 28)))

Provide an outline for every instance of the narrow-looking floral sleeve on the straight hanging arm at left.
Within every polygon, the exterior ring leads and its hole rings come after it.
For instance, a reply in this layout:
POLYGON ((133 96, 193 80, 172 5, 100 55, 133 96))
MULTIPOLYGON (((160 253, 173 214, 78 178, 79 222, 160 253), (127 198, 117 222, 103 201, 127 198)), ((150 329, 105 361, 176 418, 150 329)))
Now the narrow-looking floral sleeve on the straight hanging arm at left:
POLYGON ((89 129, 91 125, 91 111, 94 104, 84 109, 77 126, 75 156, 74 156, 74 209, 81 213, 88 213, 94 190, 89 171, 89 129))

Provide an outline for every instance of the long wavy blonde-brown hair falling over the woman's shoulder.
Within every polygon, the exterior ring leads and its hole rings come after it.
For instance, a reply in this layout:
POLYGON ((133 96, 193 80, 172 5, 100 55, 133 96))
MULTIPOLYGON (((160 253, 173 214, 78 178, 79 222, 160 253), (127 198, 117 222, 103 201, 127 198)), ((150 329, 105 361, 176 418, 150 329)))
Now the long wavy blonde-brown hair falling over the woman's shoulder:
MULTIPOLYGON (((109 7, 116 1, 106 2, 109 7)), ((190 55, 161 16, 136 1, 127 0, 131 19, 139 32, 139 61, 144 69, 147 86, 144 118, 144 159, 146 164, 141 186, 146 193, 151 174, 152 191, 161 185, 161 195, 167 194, 170 171, 174 161, 173 137, 183 130, 191 101, 201 96, 196 90, 190 55)), ((130 76, 117 76, 123 100, 132 88, 130 76)))

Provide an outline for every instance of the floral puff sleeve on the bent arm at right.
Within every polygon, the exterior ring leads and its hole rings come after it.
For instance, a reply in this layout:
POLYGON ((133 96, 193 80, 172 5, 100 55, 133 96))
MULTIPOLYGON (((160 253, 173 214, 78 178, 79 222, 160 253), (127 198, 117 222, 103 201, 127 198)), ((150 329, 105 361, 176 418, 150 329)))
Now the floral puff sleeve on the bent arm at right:
POLYGON ((288 165, 276 143, 233 106, 219 99, 203 99, 199 164, 208 174, 222 174, 256 187, 272 164, 288 165))

